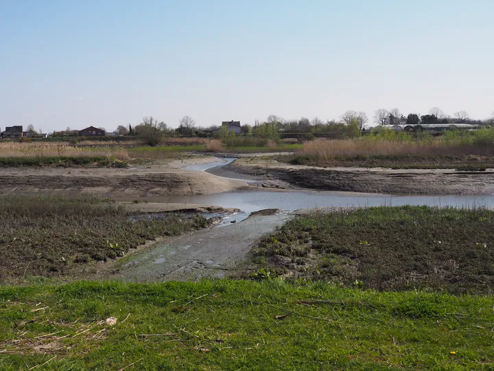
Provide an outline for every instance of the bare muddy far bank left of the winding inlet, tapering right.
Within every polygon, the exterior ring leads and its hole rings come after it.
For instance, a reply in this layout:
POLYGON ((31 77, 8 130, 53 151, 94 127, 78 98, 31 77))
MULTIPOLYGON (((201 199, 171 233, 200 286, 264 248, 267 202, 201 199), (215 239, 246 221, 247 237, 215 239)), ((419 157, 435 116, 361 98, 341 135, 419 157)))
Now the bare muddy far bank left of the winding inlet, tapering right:
POLYGON ((97 196, 119 201, 163 195, 213 194, 247 188, 247 183, 207 172, 164 166, 140 168, 0 169, 0 195, 97 196))

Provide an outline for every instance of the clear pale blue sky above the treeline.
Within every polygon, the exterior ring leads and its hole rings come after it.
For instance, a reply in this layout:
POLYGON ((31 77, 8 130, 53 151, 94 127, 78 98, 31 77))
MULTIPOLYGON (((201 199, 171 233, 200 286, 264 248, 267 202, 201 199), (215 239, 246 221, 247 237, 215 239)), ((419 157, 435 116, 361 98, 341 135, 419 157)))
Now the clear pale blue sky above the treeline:
POLYGON ((492 0, 0 0, 0 128, 494 111, 492 0))

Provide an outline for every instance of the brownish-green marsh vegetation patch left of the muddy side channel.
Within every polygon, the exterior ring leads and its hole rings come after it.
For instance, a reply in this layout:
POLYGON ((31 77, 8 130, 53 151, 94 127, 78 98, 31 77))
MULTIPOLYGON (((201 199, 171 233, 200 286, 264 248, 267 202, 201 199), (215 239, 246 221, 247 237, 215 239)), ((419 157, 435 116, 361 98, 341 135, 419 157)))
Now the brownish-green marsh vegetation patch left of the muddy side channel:
POLYGON ((207 225, 202 216, 131 214, 110 201, 3 197, 0 280, 71 275, 148 240, 207 225))

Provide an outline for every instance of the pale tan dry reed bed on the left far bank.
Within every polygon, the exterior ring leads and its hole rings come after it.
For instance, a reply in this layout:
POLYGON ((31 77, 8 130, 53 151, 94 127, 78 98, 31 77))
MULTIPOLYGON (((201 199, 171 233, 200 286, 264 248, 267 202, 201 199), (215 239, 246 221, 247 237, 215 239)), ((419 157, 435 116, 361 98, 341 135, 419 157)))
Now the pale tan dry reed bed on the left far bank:
POLYGON ((99 146, 97 148, 75 147, 62 142, 0 143, 0 157, 115 157, 128 159, 122 148, 99 146))

